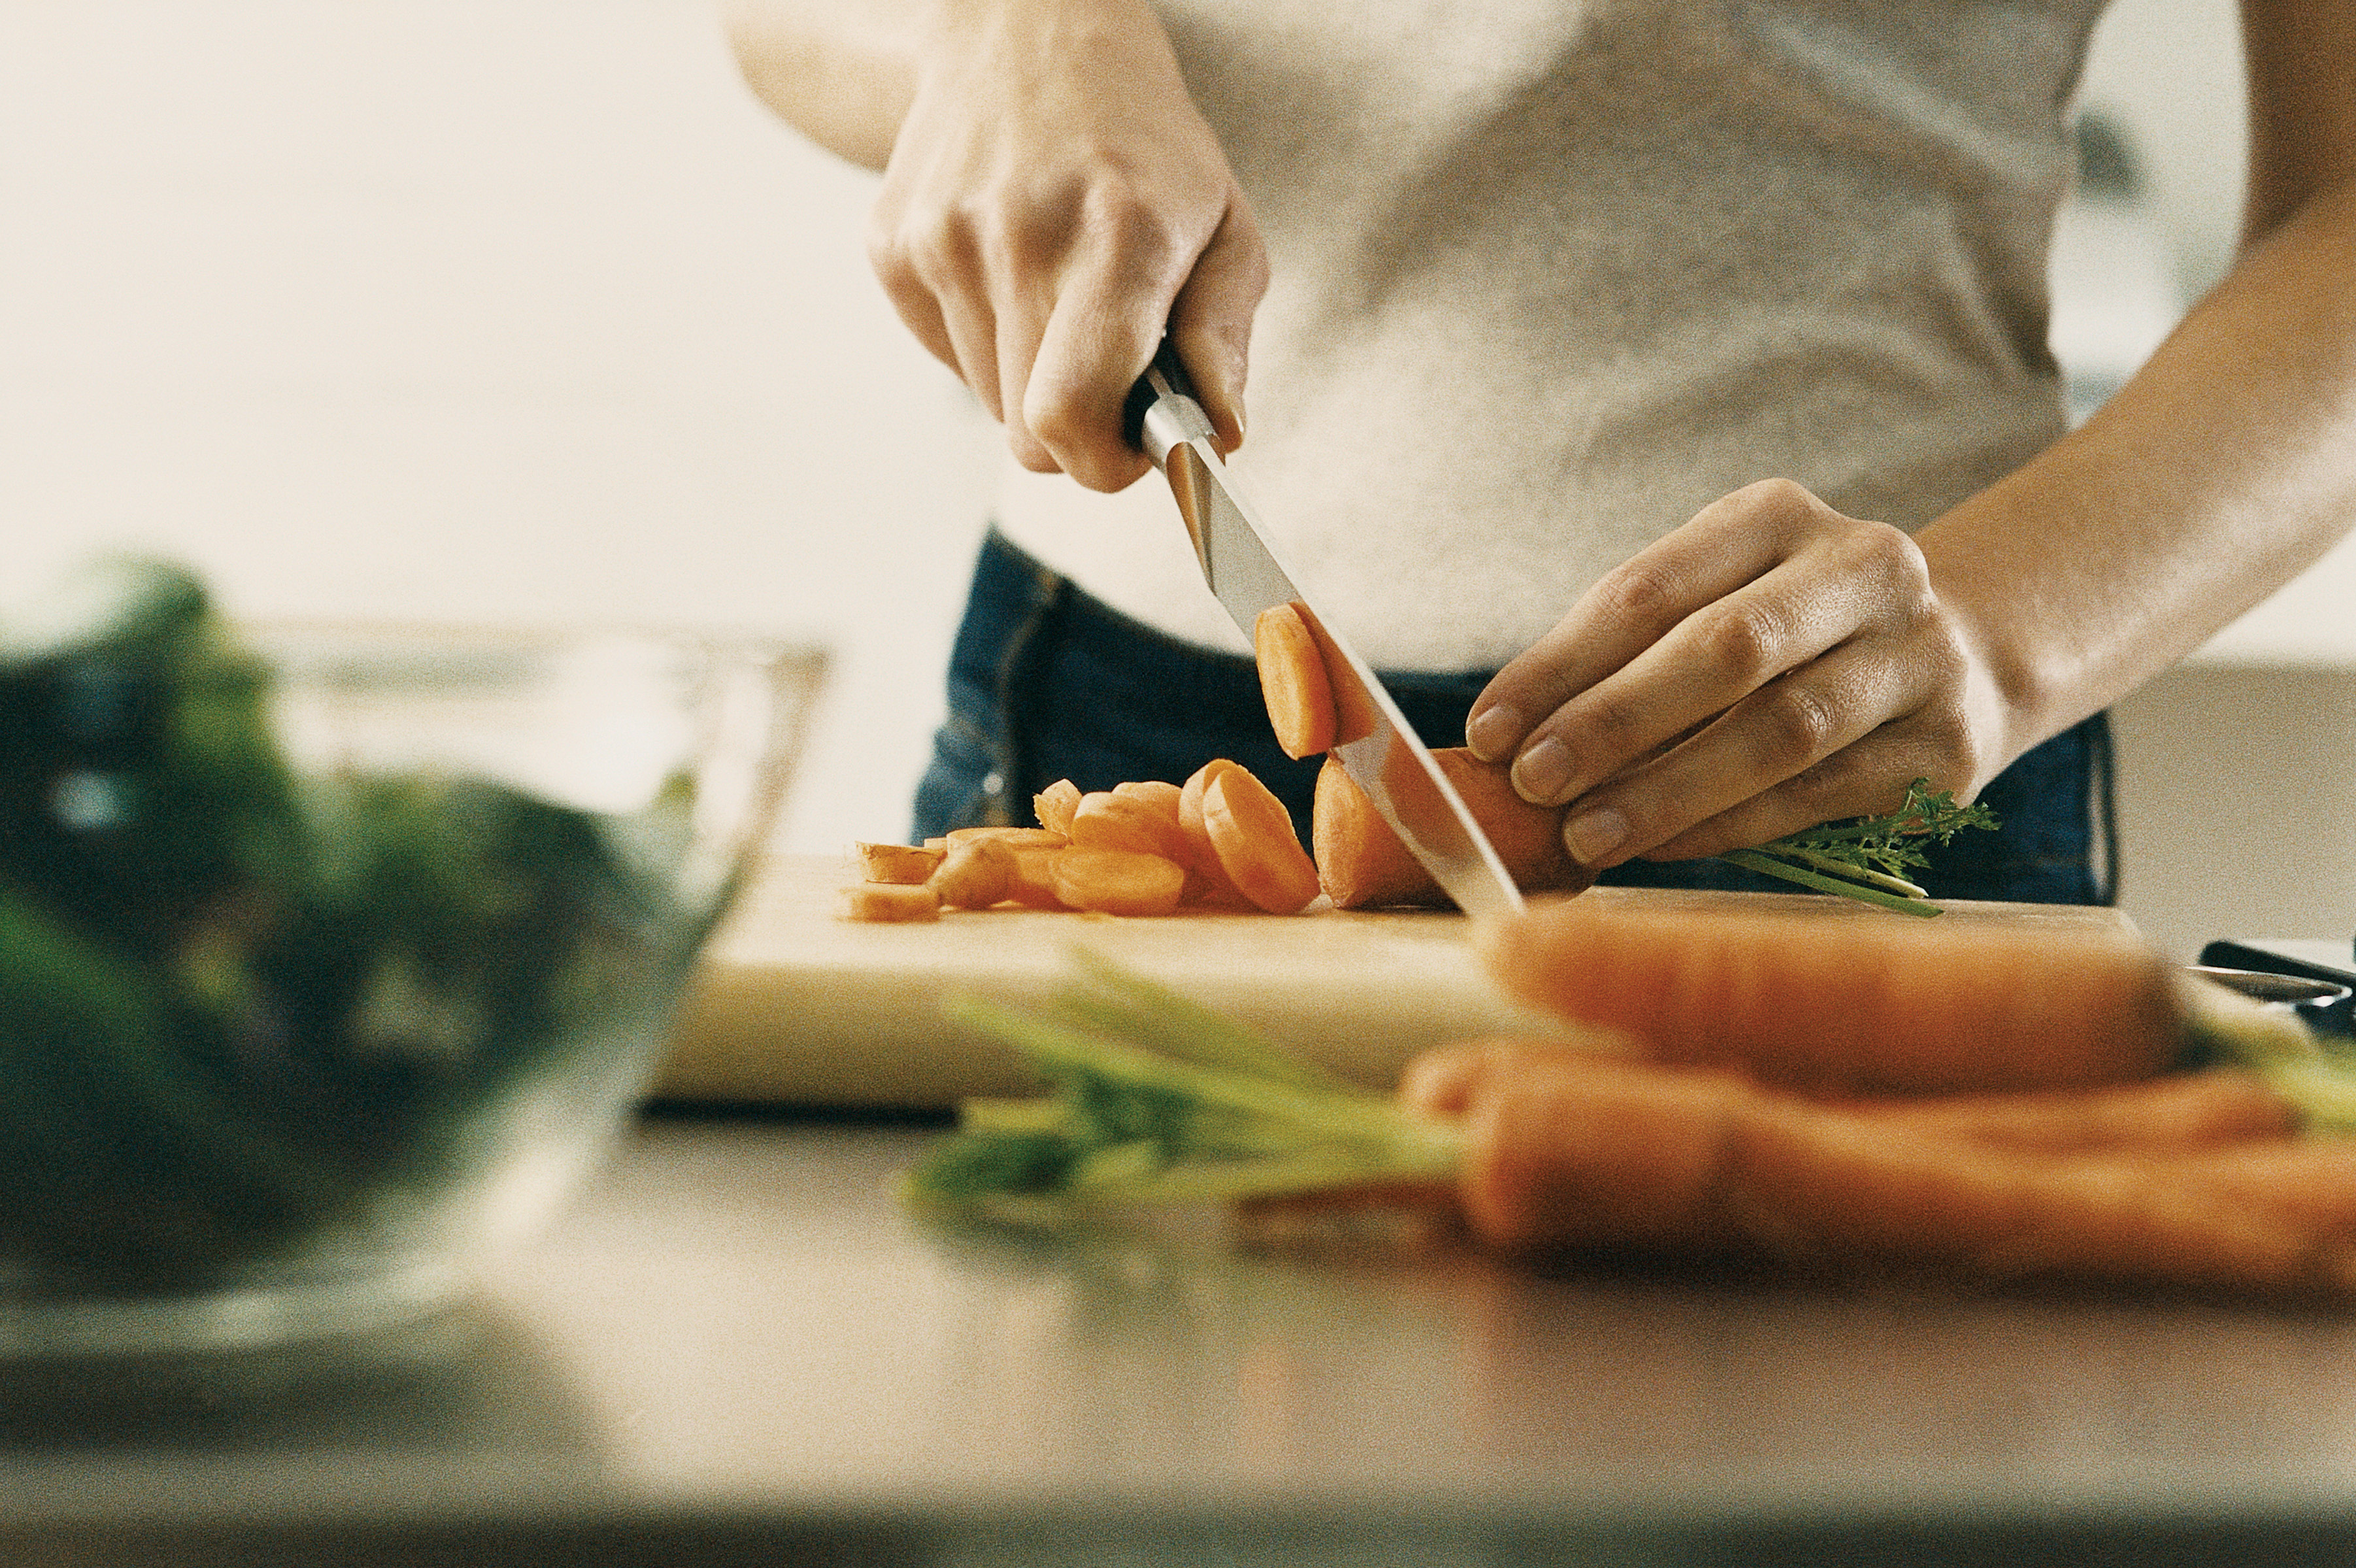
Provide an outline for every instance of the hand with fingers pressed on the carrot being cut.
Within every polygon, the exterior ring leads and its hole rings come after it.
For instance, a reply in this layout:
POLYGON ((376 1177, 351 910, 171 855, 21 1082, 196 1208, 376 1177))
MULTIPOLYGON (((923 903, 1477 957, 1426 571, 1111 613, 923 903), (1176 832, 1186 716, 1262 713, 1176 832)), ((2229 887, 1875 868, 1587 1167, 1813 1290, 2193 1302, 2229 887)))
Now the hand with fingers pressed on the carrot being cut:
POLYGON ((1465 742, 1567 805, 1564 845, 1604 869, 1897 810, 1918 777, 1970 800, 2003 727, 1922 549, 1765 480, 1595 584, 1496 673, 1465 742))

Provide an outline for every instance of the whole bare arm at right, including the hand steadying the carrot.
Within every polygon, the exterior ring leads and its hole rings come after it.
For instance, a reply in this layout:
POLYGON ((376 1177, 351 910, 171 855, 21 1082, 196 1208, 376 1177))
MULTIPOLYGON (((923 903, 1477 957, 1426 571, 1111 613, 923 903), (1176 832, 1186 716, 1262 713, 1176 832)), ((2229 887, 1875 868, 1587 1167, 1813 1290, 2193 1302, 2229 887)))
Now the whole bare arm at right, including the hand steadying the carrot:
POLYGON ((1590 591, 1468 725, 1590 866, 1977 793, 2356 525, 2356 0, 2243 0, 2243 254, 2083 428, 1913 539, 1739 490, 1590 591))

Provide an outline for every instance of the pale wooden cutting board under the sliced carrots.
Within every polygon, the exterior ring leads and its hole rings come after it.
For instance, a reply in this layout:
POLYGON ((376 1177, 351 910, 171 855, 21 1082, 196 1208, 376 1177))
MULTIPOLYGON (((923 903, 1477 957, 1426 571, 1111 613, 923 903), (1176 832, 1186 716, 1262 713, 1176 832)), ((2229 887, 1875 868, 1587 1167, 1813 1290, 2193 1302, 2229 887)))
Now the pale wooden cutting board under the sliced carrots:
MULTIPOLYGON (((1039 1005, 1091 946, 1277 1041, 1388 1088, 1428 1045, 1548 1031, 1489 982, 1458 913, 1178 913, 1124 921, 1011 909, 865 925, 836 913, 851 859, 773 859, 714 935, 681 1010, 657 1095, 829 1107, 949 1107, 1025 1088, 997 1043, 940 1015, 957 994, 1039 1005)), ((1798 909, 1901 921, 1852 899, 1595 888, 1581 897, 1670 909, 1798 909)), ((1948 902, 1944 921, 2127 930, 2116 909, 1948 902)))

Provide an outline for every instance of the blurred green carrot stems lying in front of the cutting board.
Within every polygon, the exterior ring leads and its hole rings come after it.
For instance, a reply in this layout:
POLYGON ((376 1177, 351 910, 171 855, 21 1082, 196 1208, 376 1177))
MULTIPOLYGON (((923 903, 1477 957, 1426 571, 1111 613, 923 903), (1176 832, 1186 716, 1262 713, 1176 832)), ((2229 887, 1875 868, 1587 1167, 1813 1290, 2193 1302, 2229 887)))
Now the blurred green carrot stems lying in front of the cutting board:
POLYGON ((905 1175, 909 1203, 1023 1217, 1454 1180, 1454 1125, 1105 958, 1077 963, 1079 979, 1046 1015, 952 1003, 952 1017, 1013 1045, 1053 1092, 968 1099, 959 1132, 905 1175))

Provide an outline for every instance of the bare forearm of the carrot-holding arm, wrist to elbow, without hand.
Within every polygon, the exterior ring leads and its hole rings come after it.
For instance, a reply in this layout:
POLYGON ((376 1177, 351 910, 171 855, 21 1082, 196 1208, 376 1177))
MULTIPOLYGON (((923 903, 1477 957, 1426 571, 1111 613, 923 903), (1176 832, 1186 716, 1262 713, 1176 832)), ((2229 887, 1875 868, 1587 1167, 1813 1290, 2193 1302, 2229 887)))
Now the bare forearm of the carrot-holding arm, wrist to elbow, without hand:
POLYGON ((2168 669, 2356 523, 2356 181, 2274 226, 2087 424, 1918 534, 2005 758, 2168 669))

